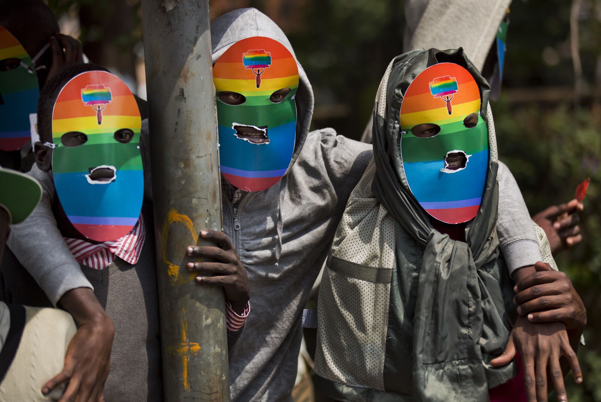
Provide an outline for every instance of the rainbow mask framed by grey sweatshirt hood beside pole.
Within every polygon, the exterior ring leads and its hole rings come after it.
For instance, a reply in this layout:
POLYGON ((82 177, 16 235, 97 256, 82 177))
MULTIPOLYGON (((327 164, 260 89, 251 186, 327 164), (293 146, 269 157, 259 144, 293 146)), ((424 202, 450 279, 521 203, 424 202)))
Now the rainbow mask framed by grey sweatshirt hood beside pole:
POLYGON ((231 45, 213 66, 221 174, 243 191, 276 184, 296 138, 296 60, 276 40, 255 36, 231 45))

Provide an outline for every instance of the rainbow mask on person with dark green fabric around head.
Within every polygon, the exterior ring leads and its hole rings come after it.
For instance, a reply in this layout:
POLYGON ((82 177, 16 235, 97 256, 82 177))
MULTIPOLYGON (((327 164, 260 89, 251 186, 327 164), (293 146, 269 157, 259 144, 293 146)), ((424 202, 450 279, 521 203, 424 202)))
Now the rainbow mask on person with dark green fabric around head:
POLYGON ((454 63, 428 67, 401 103, 401 157, 407 184, 430 215, 462 223, 480 209, 489 164, 480 91, 454 63))

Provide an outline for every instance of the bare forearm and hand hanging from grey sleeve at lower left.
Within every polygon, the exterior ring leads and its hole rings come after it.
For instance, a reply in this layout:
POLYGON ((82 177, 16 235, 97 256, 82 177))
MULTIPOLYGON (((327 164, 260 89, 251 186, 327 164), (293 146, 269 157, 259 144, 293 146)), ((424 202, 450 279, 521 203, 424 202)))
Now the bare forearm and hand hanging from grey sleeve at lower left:
POLYGON ((63 371, 43 385, 42 394, 68 382, 59 402, 103 401, 115 333, 112 320, 89 288, 66 292, 59 305, 75 318, 79 329, 67 348, 63 371))

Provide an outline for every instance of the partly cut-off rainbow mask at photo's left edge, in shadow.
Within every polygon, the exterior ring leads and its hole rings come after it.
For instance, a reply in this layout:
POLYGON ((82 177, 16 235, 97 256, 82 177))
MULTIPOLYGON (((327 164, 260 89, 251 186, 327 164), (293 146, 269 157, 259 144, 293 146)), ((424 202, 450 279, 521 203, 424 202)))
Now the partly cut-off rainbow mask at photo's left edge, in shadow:
POLYGON ((19 41, 0 26, 0 150, 20 149, 31 137, 29 114, 40 97, 33 62, 19 41))

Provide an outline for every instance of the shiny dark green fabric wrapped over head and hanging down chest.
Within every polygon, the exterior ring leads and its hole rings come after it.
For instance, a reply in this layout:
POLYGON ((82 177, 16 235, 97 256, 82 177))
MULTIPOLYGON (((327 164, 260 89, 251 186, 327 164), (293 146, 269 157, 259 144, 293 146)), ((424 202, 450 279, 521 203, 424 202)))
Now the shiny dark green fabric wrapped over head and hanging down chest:
MULTIPOLYGON (((497 310, 504 304, 499 283, 480 269, 499 257, 496 235, 498 162, 495 131, 492 121, 487 119, 489 86, 461 48, 408 52, 395 58, 389 69, 389 76, 385 76, 380 84, 374 108, 376 175, 372 190, 394 217, 395 225, 410 233, 419 250, 423 250, 416 300, 409 302, 415 306, 413 397, 420 401, 487 400, 488 384, 498 385, 507 380, 507 373, 501 375, 502 370, 490 368, 486 362, 493 357, 489 357, 489 353, 501 353, 508 336, 502 315, 499 317, 497 310), (477 215, 466 225, 466 243, 451 240, 448 235, 433 229, 429 214, 409 189, 400 153, 403 94, 419 73, 437 63, 456 63, 471 73, 480 90, 480 115, 489 132, 491 152, 484 194, 477 215), (469 395, 466 394, 468 391, 469 395)), ((397 236, 397 250, 399 238, 397 236)), ((400 276, 406 274, 403 269, 397 267, 400 276)), ((402 300, 403 297, 398 298, 402 300)), ((403 335, 394 333, 399 330, 394 322, 391 315, 387 337, 398 335, 401 338, 403 335)), ((396 352, 387 350, 387 359, 389 353, 394 356, 396 352)), ((403 365, 403 362, 397 363, 403 365)), ((511 369, 511 365, 505 368, 511 369)))

